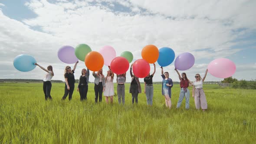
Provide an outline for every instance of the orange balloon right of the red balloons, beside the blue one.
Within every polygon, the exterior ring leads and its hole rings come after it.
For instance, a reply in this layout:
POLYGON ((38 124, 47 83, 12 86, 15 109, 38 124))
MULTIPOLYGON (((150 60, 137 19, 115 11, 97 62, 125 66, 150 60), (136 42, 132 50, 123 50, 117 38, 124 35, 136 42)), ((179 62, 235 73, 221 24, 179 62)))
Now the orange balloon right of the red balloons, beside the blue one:
POLYGON ((145 46, 141 51, 141 56, 148 63, 155 63, 159 57, 158 48, 154 45, 145 46))

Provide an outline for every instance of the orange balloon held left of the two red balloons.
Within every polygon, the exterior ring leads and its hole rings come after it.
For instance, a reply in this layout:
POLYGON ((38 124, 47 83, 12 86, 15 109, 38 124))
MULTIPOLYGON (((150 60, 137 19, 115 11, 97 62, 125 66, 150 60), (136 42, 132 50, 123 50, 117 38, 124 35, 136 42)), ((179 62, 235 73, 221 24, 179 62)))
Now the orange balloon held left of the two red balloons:
POLYGON ((103 56, 99 52, 95 52, 95 51, 89 52, 85 56, 85 65, 91 71, 96 72, 102 69, 104 65, 103 56))

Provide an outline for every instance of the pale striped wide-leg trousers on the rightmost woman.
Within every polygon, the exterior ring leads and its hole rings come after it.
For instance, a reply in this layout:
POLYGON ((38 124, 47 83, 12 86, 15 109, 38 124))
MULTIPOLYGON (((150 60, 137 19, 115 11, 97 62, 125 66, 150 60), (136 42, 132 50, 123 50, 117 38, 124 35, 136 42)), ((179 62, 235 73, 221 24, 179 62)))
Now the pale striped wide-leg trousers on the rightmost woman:
POLYGON ((203 88, 196 88, 195 89, 194 98, 195 98, 196 109, 200 109, 200 107, 202 109, 207 109, 208 108, 206 97, 205 97, 205 94, 203 92, 203 88))

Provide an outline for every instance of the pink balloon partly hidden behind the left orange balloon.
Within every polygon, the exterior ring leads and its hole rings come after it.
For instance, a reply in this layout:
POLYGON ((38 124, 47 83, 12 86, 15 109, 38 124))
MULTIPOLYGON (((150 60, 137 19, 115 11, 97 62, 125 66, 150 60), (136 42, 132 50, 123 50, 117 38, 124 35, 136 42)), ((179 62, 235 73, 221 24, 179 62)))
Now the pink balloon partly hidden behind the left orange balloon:
POLYGON ((112 46, 103 46, 99 50, 99 53, 102 54, 104 58, 104 64, 107 66, 110 65, 111 61, 116 57, 115 49, 112 48, 112 46))

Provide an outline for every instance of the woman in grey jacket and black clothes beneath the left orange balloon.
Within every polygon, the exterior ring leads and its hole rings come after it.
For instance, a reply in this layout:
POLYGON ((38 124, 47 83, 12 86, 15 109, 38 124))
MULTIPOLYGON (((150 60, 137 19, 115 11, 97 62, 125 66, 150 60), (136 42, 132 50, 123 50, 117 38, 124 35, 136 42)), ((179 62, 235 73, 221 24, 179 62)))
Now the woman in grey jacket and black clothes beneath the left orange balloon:
POLYGON ((102 101, 102 92, 105 88, 105 76, 102 73, 102 69, 98 70, 97 73, 92 72, 94 79, 94 92, 95 92, 95 103, 102 101))

